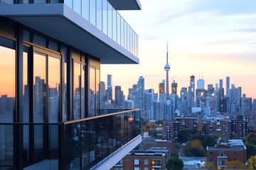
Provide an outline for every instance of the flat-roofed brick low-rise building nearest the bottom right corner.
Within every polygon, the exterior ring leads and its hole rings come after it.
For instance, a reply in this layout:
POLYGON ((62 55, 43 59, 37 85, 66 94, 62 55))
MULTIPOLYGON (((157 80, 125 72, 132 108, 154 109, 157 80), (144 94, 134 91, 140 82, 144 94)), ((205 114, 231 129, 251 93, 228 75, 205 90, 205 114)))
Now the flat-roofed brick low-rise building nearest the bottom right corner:
POLYGON ((246 147, 242 140, 229 140, 215 147, 206 147, 207 162, 213 162, 217 169, 225 169, 227 161, 246 163, 246 147))

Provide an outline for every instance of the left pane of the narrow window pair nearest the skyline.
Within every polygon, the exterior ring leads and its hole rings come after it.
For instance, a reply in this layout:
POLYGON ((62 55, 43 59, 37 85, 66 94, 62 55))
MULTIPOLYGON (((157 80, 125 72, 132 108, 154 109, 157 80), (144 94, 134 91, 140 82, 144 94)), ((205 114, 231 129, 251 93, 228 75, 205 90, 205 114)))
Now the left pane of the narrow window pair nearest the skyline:
POLYGON ((95 106, 96 106, 96 84, 95 84, 95 74, 96 69, 90 67, 90 88, 89 88, 89 117, 95 116, 95 106))

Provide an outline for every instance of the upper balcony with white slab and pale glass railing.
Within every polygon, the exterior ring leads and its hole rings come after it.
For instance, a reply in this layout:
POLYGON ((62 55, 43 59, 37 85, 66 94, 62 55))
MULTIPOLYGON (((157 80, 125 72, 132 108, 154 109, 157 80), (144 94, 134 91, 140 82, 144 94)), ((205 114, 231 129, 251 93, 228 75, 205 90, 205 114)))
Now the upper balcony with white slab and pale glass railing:
MULTIPOLYGON (((118 1, 111 4, 120 7, 118 1)), ((0 16, 87 52, 102 64, 139 63, 138 35, 111 4, 107 0, 0 0, 0 16)), ((138 0, 124 4, 127 9, 140 6, 138 0)))

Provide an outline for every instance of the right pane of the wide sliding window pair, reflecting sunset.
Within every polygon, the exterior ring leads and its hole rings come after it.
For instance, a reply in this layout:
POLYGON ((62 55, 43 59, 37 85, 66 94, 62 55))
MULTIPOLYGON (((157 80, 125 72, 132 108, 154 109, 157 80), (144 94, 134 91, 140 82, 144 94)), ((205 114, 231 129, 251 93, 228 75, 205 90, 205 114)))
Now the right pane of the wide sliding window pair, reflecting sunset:
POLYGON ((60 120, 60 59, 48 57, 48 122, 60 120))

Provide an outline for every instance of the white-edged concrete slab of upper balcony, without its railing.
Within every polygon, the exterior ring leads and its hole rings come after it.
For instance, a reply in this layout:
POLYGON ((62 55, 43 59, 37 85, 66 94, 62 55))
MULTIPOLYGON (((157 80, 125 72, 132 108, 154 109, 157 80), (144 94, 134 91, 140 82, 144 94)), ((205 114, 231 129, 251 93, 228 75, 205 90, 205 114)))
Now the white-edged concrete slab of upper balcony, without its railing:
POLYGON ((102 64, 138 64, 139 58, 65 4, 1 4, 0 16, 100 59, 102 64))

